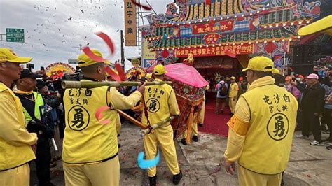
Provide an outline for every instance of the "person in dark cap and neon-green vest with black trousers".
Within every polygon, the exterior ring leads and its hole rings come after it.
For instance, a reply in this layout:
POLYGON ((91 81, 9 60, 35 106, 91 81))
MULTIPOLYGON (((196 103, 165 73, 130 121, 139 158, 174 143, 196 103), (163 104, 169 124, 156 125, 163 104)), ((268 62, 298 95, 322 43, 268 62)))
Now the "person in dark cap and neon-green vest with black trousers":
POLYGON ((38 136, 35 160, 38 185, 53 185, 50 182, 51 157, 48 141, 48 138, 53 137, 53 131, 47 124, 41 122, 44 113, 44 100, 41 94, 33 92, 37 85, 36 78, 41 77, 29 71, 29 69, 23 69, 13 91, 22 103, 28 131, 36 132, 38 136))

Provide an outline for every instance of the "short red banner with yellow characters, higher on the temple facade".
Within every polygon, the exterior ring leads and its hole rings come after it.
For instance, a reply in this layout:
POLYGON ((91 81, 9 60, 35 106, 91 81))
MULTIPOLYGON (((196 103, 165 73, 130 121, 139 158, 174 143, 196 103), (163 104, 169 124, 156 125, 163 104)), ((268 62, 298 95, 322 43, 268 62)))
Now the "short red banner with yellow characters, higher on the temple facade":
POLYGON ((205 24, 194 24, 191 26, 193 34, 205 34, 209 32, 232 31, 234 20, 228 21, 210 21, 205 24))

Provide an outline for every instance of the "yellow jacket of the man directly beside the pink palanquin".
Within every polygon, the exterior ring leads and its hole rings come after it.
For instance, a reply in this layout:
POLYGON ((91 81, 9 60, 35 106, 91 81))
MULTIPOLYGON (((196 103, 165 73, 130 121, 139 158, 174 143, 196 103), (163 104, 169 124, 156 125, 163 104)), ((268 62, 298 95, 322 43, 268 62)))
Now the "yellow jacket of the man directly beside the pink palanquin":
MULTIPOLYGON (((161 81, 160 79, 155 79, 161 81)), ((177 105, 177 98, 170 85, 146 86, 144 92, 145 105, 148 108, 148 120, 153 125, 165 120, 170 115, 179 115, 180 110, 177 105)), ((143 111, 141 122, 147 125, 146 115, 143 111)), ((167 126, 170 122, 165 123, 167 126)))

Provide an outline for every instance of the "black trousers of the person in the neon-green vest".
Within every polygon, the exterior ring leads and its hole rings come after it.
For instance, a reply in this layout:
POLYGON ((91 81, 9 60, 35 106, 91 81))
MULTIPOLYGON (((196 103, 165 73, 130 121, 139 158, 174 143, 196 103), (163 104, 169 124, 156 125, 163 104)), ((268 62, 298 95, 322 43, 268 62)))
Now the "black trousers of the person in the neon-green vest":
POLYGON ((36 150, 36 171, 39 186, 50 182, 50 142, 48 138, 38 137, 36 150))

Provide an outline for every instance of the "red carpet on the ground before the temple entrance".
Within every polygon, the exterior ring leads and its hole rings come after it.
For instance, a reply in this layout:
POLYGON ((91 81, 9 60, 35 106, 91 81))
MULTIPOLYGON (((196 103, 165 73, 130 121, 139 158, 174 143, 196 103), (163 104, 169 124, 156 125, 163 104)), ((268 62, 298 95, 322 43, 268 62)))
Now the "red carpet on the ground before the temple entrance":
POLYGON ((218 134, 220 136, 228 135, 227 122, 230 120, 230 110, 226 106, 223 114, 214 113, 216 108, 216 101, 209 99, 205 105, 205 119, 203 127, 198 126, 198 131, 202 131, 209 134, 218 134))

